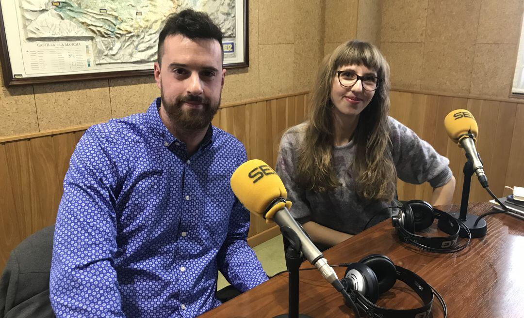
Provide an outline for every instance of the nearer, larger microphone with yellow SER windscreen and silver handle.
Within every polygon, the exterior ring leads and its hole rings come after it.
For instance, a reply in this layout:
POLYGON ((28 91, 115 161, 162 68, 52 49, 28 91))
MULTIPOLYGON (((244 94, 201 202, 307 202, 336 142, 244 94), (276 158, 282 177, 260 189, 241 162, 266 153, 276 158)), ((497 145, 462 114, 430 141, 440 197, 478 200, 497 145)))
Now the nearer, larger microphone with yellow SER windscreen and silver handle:
POLYGON ((235 196, 250 212, 275 222, 280 227, 288 226, 297 234, 302 254, 319 269, 322 276, 337 290, 344 289, 335 271, 318 248, 311 242, 302 226, 289 213, 291 201, 282 180, 265 162, 255 159, 240 165, 231 176, 231 188, 235 196))

